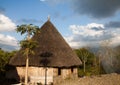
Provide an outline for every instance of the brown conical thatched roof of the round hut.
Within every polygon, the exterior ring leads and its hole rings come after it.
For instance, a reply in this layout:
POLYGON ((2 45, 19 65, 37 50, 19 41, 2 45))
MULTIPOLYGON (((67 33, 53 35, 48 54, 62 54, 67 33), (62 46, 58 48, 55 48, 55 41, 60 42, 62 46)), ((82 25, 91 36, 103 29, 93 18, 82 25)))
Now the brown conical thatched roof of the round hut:
MULTIPOLYGON (((49 20, 32 39, 39 44, 34 49, 35 54, 29 56, 29 66, 71 67, 81 64, 80 59, 49 20)), ((26 58, 21 51, 10 60, 9 64, 25 66, 26 58)))

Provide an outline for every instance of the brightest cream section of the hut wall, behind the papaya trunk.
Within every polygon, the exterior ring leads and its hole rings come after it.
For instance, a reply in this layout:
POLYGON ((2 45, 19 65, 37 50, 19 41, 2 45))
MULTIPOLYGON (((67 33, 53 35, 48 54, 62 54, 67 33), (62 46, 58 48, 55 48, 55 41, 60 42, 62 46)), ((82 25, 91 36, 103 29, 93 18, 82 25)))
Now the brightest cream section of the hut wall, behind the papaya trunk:
MULTIPOLYGON (((25 76, 25 67, 17 67, 21 80, 25 76)), ((28 77, 31 83, 45 83, 45 68, 29 67, 28 77)), ((47 83, 53 82, 53 68, 47 68, 47 83)))

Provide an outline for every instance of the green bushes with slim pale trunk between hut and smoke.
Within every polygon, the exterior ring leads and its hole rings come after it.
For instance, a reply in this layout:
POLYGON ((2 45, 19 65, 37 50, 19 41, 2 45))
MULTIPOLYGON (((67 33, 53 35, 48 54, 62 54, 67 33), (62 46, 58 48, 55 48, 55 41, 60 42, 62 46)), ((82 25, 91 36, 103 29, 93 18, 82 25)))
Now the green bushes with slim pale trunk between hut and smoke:
POLYGON ((94 53, 90 52, 88 48, 76 49, 75 52, 83 63, 78 70, 79 76, 99 75, 104 73, 101 63, 99 63, 99 58, 94 53))

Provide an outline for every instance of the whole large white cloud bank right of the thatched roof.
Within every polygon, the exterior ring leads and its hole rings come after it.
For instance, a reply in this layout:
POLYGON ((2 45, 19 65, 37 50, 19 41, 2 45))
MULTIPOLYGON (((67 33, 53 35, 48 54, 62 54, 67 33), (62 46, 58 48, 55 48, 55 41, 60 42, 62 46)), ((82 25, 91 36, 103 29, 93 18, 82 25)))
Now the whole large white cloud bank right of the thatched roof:
POLYGON ((120 44, 120 28, 108 29, 104 24, 90 23, 85 26, 70 25, 72 31, 65 40, 72 48, 99 46, 101 41, 110 40, 112 46, 120 44))

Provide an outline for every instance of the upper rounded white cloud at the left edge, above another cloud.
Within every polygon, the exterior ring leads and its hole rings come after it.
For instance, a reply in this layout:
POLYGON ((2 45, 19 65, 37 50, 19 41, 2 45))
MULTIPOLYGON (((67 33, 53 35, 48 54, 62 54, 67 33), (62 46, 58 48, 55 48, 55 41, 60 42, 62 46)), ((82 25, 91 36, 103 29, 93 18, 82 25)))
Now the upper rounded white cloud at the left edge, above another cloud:
POLYGON ((7 16, 0 14, 0 32, 13 31, 16 25, 7 16))

